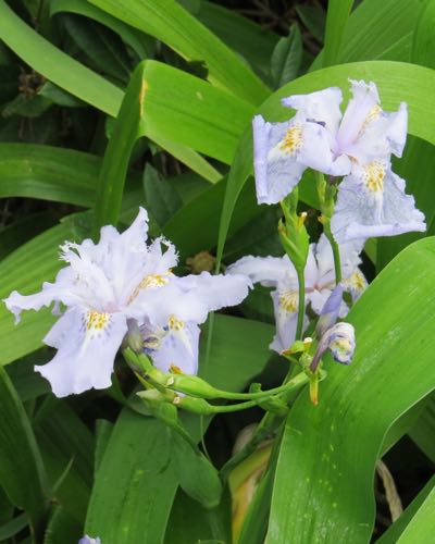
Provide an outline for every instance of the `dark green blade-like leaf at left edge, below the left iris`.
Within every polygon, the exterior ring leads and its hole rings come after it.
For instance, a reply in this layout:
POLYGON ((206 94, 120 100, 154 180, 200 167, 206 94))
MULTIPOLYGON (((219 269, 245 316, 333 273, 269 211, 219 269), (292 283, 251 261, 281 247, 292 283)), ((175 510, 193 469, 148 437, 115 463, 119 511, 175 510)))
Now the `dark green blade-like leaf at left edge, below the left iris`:
POLYGON ((0 368, 0 485, 40 534, 48 510, 42 459, 22 403, 0 368))

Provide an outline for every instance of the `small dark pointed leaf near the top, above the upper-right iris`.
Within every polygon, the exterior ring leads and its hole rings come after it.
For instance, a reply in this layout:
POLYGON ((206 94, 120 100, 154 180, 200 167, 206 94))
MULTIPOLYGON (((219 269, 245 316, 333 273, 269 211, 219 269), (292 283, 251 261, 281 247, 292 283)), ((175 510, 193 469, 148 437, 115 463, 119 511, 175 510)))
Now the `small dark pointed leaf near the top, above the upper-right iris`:
POLYGON ((298 25, 290 26, 288 36, 276 44, 271 59, 271 75, 275 89, 297 77, 302 61, 302 37, 298 25))

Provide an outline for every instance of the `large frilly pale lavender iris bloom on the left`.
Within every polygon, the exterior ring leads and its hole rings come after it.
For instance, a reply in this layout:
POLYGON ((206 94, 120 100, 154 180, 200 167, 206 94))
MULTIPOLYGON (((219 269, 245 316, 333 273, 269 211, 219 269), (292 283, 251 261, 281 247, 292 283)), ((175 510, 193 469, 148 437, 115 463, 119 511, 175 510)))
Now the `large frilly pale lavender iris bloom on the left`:
POLYGON ((196 373, 198 324, 206 321, 209 311, 239 304, 246 297, 250 281, 245 276, 207 272, 175 276, 171 271, 177 263, 174 246, 163 238, 147 246, 147 223, 141 208, 122 234, 104 226, 98 244, 90 239, 65 244, 61 258, 67 267, 54 283, 45 283, 35 295, 13 292, 4 300, 16 321, 22 310, 39 310, 52 302, 54 311, 65 308, 44 338, 58 349, 54 358, 35 367, 57 396, 110 386, 128 319, 159 336, 153 350, 159 368, 167 370, 173 364, 196 373))

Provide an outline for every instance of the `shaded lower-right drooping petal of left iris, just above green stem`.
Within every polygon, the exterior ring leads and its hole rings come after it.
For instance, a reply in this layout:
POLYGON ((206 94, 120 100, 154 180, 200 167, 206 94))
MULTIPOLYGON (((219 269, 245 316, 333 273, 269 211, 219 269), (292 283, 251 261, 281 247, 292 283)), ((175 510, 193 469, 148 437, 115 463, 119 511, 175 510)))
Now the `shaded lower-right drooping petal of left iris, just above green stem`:
POLYGON ((176 322, 169 327, 156 349, 147 349, 154 366, 163 372, 198 372, 198 342, 200 329, 196 323, 176 322))

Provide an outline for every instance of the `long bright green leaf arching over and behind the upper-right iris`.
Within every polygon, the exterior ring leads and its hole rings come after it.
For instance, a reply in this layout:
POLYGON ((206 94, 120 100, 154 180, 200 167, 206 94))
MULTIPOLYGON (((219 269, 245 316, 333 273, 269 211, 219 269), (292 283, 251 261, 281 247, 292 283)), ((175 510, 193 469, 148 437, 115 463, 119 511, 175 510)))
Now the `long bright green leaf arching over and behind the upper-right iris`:
MULTIPOLYGON (((435 71, 399 62, 359 62, 331 66, 311 72, 285 85, 274 92, 260 108, 259 112, 268 121, 288 119, 288 110, 281 104, 281 98, 299 92, 310 92, 320 88, 338 85, 348 95, 348 78, 366 79, 376 83, 386 110, 397 108, 400 101, 408 102, 410 110, 409 133, 435 144, 435 71)), ((225 201, 222 209, 219 235, 217 258, 222 256, 227 230, 239 193, 252 173, 251 131, 246 131, 240 139, 229 172, 225 201)), ((253 186, 251 186, 253 193, 253 186)), ((260 208, 254 213, 259 213, 260 208)), ((240 206, 237 206, 237 213, 240 206)), ((236 218, 235 218, 236 219, 236 218)), ((249 219, 252 219, 249 218, 249 219)))

